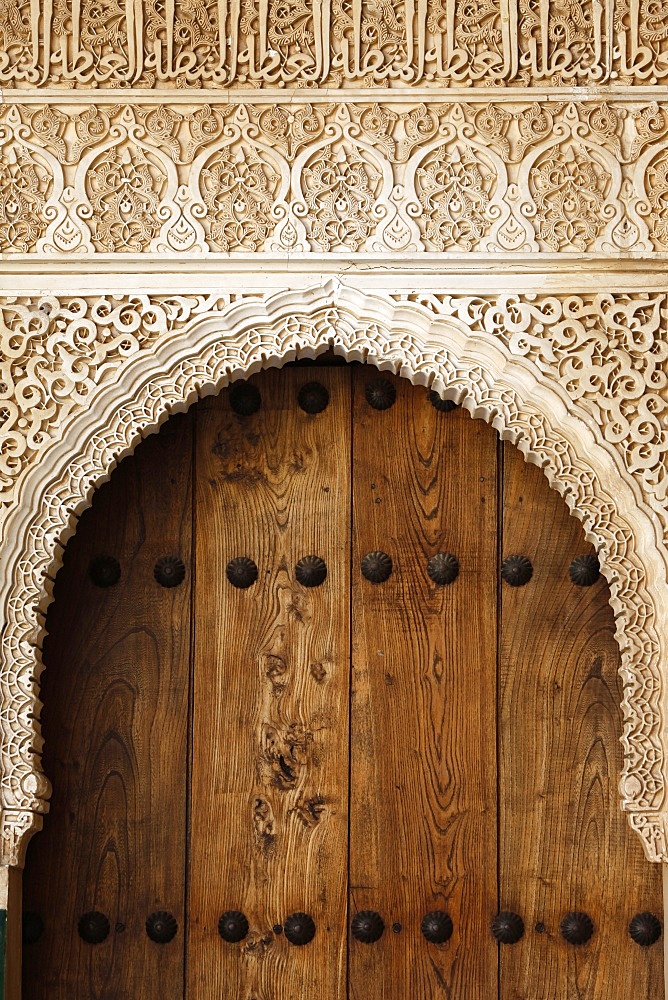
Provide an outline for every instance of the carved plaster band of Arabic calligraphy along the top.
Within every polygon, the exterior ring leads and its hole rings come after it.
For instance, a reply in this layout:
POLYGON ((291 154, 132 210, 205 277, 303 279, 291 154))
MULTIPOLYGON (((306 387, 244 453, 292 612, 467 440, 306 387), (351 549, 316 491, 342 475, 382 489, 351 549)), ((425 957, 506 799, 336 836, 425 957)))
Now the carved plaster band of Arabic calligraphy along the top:
POLYGON ((668 13, 643 0, 4 0, 0 84, 653 84, 668 13))

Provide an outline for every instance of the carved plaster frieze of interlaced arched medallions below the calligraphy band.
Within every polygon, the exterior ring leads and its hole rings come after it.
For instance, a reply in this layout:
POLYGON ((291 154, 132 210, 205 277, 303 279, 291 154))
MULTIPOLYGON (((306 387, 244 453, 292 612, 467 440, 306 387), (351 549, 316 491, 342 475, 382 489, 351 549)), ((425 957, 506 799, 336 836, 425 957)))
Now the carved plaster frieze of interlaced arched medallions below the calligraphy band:
POLYGON ((0 106, 0 252, 652 255, 668 104, 0 106))

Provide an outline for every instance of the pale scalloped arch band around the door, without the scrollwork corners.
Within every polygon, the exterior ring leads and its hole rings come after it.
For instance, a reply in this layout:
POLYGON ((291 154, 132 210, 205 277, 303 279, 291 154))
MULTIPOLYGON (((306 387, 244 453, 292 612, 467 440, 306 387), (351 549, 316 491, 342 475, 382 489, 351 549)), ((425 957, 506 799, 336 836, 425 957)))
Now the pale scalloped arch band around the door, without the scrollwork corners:
MULTIPOLYGON (((205 297, 202 297, 205 298, 205 297)), ((150 311, 150 310, 149 310, 150 311)), ((503 316, 497 313, 498 322, 503 316)), ((512 318, 508 316, 509 327, 512 318)), ((512 339, 472 328, 425 298, 365 292, 337 280, 300 291, 239 296, 195 310, 125 358, 21 486, 6 552, 10 573, 0 663, 3 863, 20 866, 48 810, 38 697, 44 613, 67 538, 92 493, 142 437, 229 381, 333 347, 460 402, 543 469, 596 546, 610 585, 624 684, 622 808, 652 861, 668 861, 661 673, 668 621, 665 551, 655 512, 619 448, 558 378, 512 339)), ((623 446, 623 442, 622 442, 623 446)))

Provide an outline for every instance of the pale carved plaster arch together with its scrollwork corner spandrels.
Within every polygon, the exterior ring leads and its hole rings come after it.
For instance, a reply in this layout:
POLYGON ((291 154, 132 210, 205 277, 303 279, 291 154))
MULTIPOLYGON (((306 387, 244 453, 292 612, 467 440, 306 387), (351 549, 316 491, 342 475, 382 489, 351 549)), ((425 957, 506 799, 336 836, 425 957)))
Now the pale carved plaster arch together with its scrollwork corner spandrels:
POLYGON ((93 490, 171 412, 329 346, 492 422, 583 521, 622 651, 622 806, 647 856, 668 861, 666 293, 436 295, 330 280, 280 293, 5 299, 3 317, 6 862, 21 862, 47 808, 37 721, 44 612, 93 490))

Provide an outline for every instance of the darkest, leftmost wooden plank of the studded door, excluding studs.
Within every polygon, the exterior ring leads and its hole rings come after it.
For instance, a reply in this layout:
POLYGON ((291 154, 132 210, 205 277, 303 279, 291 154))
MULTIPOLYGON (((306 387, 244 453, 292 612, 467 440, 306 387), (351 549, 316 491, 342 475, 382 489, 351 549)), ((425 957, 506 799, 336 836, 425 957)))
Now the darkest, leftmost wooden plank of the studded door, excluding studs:
POLYGON ((42 686, 54 792, 24 897, 45 931, 24 951, 25 1000, 183 998, 190 573, 166 589, 153 568, 190 566, 190 471, 179 416, 96 494, 57 579, 42 686), (99 554, 120 562, 116 586, 91 583, 99 554), (163 909, 180 929, 158 945, 145 921, 163 909), (111 924, 99 945, 77 933, 91 910, 111 924))

